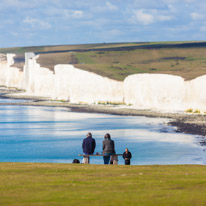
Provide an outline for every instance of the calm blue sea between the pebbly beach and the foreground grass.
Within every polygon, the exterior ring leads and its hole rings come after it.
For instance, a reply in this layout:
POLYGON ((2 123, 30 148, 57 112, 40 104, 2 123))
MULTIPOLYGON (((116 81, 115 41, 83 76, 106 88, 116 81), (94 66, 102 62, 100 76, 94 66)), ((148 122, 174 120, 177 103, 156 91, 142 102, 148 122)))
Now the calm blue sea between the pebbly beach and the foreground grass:
MULTIPOLYGON (((0 102, 20 100, 0 99, 0 102)), ((70 112, 64 108, 0 106, 0 162, 71 163, 81 159, 82 140, 88 131, 102 152, 109 132, 117 153, 131 151, 132 164, 206 164, 201 137, 175 133, 169 120, 70 112)), ((102 157, 91 163, 102 164, 102 157)), ((124 164, 119 158, 119 164, 124 164)))

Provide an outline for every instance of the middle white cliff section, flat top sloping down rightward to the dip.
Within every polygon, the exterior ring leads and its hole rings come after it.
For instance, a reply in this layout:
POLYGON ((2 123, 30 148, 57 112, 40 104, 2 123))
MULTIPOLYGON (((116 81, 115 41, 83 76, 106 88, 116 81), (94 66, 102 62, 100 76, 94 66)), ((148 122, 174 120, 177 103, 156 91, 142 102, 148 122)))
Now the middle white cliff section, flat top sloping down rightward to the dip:
POLYGON ((72 65, 55 66, 56 99, 71 103, 122 103, 123 82, 74 68, 72 65))

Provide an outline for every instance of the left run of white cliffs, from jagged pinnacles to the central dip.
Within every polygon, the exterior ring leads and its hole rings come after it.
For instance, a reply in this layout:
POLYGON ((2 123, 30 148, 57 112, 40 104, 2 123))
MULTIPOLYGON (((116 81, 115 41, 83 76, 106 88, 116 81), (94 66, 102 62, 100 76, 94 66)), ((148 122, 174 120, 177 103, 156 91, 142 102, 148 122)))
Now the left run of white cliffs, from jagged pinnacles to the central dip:
POLYGON ((12 67, 15 55, 7 55, 0 65, 1 84, 24 88, 26 93, 35 96, 50 97, 54 100, 69 100, 71 103, 122 103, 123 82, 104 78, 100 75, 83 71, 73 65, 56 65, 54 72, 41 67, 37 62, 38 56, 27 53, 24 71, 16 75, 12 67), (8 58, 9 57, 9 58, 8 58), (17 81, 14 85, 8 79, 17 81))

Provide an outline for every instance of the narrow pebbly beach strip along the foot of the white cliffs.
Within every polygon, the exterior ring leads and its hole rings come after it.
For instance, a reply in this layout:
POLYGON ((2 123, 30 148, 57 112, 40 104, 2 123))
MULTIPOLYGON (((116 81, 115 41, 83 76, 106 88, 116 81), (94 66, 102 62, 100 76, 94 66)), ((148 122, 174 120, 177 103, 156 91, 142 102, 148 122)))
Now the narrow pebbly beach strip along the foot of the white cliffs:
POLYGON ((206 136, 206 115, 163 113, 160 111, 141 110, 116 105, 70 104, 68 102, 50 100, 46 97, 26 96, 20 94, 19 90, 6 88, 0 88, 0 98, 28 100, 27 102, 0 103, 0 105, 64 107, 70 109, 72 112, 168 118, 171 119, 168 125, 176 127, 176 132, 206 136))

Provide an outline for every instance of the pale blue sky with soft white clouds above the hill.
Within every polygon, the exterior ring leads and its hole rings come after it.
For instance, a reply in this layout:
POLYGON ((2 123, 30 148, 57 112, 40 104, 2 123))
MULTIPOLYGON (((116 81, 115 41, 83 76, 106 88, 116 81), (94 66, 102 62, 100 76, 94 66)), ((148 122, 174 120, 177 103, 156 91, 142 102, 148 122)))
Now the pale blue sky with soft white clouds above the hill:
POLYGON ((0 48, 198 41, 205 0, 0 0, 0 48))

